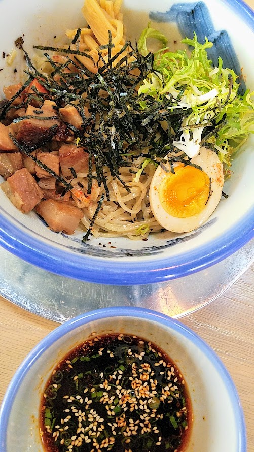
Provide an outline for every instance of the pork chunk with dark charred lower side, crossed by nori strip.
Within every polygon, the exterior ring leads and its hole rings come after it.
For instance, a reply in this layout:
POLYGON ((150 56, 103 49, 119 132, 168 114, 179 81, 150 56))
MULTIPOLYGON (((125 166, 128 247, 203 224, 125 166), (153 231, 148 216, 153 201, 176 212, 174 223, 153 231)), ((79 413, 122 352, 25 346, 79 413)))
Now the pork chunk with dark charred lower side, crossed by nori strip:
POLYGON ((60 125, 57 116, 55 102, 45 101, 41 108, 28 105, 25 116, 36 116, 36 118, 23 119, 18 123, 17 140, 28 147, 39 147, 40 144, 51 140, 60 125), (54 119, 42 119, 44 117, 54 119))

